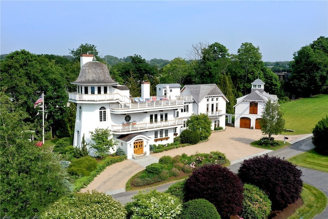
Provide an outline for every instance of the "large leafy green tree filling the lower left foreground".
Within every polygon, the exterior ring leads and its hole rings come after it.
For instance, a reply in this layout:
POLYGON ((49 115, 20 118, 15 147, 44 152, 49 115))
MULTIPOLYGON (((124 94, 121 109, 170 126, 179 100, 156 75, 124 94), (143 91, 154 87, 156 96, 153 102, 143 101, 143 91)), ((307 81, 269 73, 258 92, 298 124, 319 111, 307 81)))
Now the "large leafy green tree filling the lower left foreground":
POLYGON ((24 121, 28 114, 0 93, 0 215, 33 217, 72 186, 59 157, 29 142, 32 128, 24 121))

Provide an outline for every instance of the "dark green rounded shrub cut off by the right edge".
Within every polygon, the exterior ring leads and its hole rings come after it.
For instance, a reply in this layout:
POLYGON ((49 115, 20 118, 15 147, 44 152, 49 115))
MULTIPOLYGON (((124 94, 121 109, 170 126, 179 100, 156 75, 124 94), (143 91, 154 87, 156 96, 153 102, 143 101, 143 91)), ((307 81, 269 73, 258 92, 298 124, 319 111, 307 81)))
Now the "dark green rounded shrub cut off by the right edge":
POLYGON ((328 155, 328 116, 322 118, 314 127, 312 143, 314 150, 321 155, 328 155))

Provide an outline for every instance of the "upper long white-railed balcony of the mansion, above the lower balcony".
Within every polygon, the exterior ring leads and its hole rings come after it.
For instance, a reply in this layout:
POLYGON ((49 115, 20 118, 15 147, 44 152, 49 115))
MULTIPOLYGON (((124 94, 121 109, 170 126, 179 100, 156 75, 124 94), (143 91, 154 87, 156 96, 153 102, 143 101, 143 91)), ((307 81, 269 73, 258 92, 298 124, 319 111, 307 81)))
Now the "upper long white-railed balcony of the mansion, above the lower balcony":
POLYGON ((162 101, 150 101, 150 102, 137 102, 137 103, 126 103, 119 104, 113 103, 111 104, 111 112, 112 113, 122 113, 125 112, 133 112, 140 110, 150 110, 150 109, 171 109, 177 107, 183 107, 184 104, 183 99, 174 99, 174 100, 162 100, 162 101))

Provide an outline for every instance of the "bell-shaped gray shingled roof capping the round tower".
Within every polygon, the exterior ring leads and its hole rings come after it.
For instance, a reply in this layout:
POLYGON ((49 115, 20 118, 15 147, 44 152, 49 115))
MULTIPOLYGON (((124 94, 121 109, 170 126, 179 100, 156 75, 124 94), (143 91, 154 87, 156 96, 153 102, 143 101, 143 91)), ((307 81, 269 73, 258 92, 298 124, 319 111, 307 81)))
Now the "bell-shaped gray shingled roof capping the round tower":
POLYGON ((93 61, 82 66, 76 81, 71 84, 117 85, 118 83, 113 81, 105 64, 93 61))

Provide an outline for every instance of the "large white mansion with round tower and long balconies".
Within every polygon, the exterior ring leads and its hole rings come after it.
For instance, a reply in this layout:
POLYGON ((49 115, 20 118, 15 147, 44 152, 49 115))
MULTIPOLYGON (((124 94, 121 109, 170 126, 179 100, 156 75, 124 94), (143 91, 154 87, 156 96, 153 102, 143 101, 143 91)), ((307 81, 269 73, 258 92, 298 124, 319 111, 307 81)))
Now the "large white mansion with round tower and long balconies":
MULTIPOLYGON (((128 159, 150 154, 150 145, 173 143, 192 113, 207 113, 212 128, 222 126, 228 99, 216 85, 159 84, 156 95, 150 96, 150 83, 141 83, 141 97, 131 97, 130 90, 113 81, 103 63, 91 54, 80 57, 81 69, 76 92, 69 101, 76 103, 74 141, 81 147, 85 136, 92 142, 90 132, 96 128, 111 130, 116 148, 122 148, 128 159)), ((90 154, 94 150, 89 148, 90 154)))

